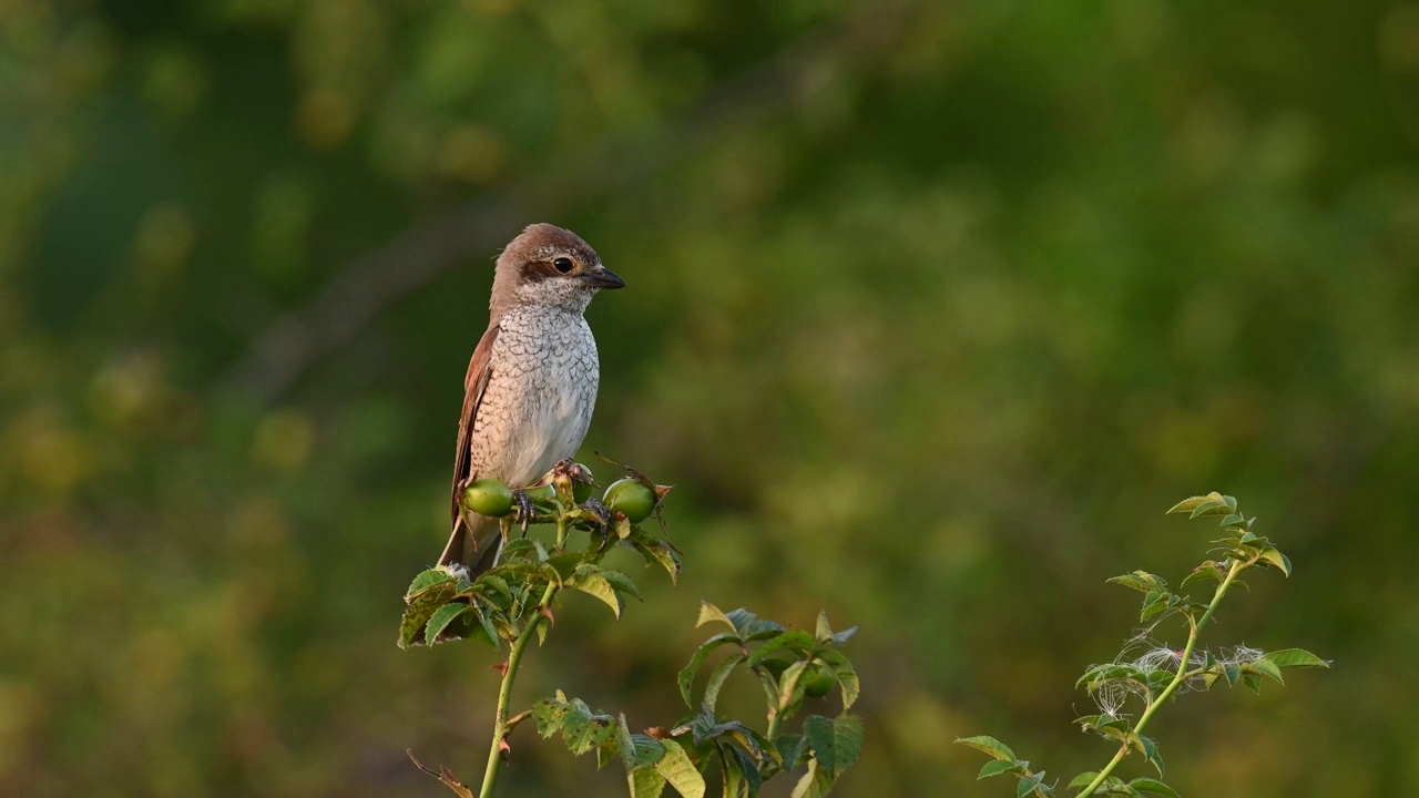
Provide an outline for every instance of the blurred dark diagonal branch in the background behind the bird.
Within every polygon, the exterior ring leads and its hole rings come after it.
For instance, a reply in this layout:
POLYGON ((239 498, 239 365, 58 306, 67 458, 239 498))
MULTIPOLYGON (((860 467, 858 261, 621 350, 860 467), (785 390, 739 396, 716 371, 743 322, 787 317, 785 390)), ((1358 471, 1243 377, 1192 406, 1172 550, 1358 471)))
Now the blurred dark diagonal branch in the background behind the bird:
POLYGON ((220 381, 227 392, 270 405, 321 359, 353 341, 392 304, 433 284, 470 257, 491 256, 528 212, 555 216, 626 189, 707 146, 727 131, 802 106, 841 74, 890 53, 910 6, 863 3, 833 30, 807 35, 768 62, 711 89, 653 132, 609 141, 552 165, 497 199, 482 199, 420 222, 350 261, 309 304, 261 332, 220 381))

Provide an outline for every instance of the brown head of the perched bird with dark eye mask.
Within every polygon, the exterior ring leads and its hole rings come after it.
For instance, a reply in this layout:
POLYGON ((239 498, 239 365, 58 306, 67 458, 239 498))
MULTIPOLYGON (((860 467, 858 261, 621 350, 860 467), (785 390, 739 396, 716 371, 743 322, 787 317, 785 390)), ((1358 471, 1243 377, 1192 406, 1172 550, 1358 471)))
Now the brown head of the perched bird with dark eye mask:
POLYGON ((555 224, 531 224, 498 256, 491 305, 494 314, 528 304, 582 312, 596 291, 624 287, 580 236, 555 224))

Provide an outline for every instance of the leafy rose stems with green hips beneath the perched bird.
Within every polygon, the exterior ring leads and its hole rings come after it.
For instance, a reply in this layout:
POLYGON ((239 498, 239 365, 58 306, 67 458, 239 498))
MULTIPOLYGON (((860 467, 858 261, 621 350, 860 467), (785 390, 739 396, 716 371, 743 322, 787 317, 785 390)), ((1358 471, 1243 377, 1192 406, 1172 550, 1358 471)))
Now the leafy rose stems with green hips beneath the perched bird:
MULTIPOLYGON (((507 663, 498 666, 502 689, 481 795, 491 795, 499 763, 511 750, 508 734, 528 717, 543 738, 561 734, 572 754, 595 751, 599 768, 620 758, 631 798, 656 798, 666 787, 684 798, 702 798, 714 768, 719 772, 722 795, 752 798, 765 781, 799 767, 805 772, 793 795, 826 795, 863 750, 863 721, 847 711, 860 692, 857 672, 840 650, 857 629, 834 632, 826 613, 819 613, 813 632, 807 632, 762 619, 746 609, 725 613, 702 602, 698 625, 724 623, 729 630, 705 640, 680 672, 681 697, 697 711, 668 731, 657 727, 633 734, 624 714, 613 717, 595 711, 561 690, 524 713, 508 716, 522 653, 532 633, 545 639, 549 626, 545 622, 551 621, 552 603, 562 591, 586 594, 609 606, 616 618, 626 606, 626 596, 640 598, 640 588, 630 576, 600 565, 613 544, 640 552, 648 567, 663 568, 671 579, 680 572, 678 551, 658 534, 634 525, 636 518, 644 520, 653 513, 660 517, 670 488, 639 471, 627 471, 633 476, 613 483, 603 500, 589 501, 587 494, 578 501, 578 477, 590 471, 569 460, 559 463, 538 486, 522 491, 553 486, 551 493, 536 491, 531 515, 517 520, 524 525, 555 524, 552 548, 535 537, 512 540, 504 547, 498 565, 474 579, 468 579, 461 567, 433 568, 409 585, 399 626, 400 647, 461 638, 481 639, 495 649, 502 643, 511 646, 507 663), (641 505, 626 503, 633 493, 641 505), (566 547, 575 528, 589 532, 582 551, 566 547), (697 706, 691 699, 695 676, 722 646, 731 652, 715 663, 697 706), (739 720, 721 718, 715 711, 719 690, 736 669, 752 673, 763 686, 768 717, 762 733, 739 720), (836 717, 810 714, 796 731, 783 726, 806 699, 822 699, 833 686, 841 693, 841 711, 836 717)), ((499 494, 495 487, 482 486, 487 493, 499 494)), ((514 520, 504 521, 504 534, 512 525, 514 520)), ((414 764, 460 797, 471 795, 470 788, 447 770, 424 768, 419 760, 414 764)))

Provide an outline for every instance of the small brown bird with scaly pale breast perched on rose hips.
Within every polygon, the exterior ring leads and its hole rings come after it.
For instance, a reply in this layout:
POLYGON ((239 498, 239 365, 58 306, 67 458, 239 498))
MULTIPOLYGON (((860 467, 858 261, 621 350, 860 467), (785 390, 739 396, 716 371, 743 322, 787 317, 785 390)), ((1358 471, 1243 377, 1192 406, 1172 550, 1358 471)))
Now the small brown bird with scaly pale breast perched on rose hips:
POLYGON ((475 479, 526 487, 576 454, 592 423, 600 359, 586 324, 597 291, 626 281, 576 233, 531 224, 498 256, 482 334, 464 376, 453 471, 453 532, 438 565, 477 576, 497 565, 497 518, 464 513, 475 479))

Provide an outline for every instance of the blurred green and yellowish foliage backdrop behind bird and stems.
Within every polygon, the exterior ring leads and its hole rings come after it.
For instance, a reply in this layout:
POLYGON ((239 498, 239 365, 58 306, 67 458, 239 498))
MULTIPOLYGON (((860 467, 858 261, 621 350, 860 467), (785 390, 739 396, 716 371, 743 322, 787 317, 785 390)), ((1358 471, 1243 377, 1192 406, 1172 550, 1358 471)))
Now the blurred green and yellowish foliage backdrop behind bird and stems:
MULTIPOLYGON (((1419 4, 4 0, 0 91, 4 795, 478 777, 495 655, 394 632, 538 220, 630 284, 583 460, 678 484, 685 572, 569 601, 519 703, 667 724, 700 599, 823 608, 840 794, 1009 794, 981 733, 1067 780, 1104 579, 1222 490, 1296 574, 1212 640, 1335 669, 1169 707, 1169 781, 1419 791, 1419 4)), ((514 744, 505 795, 623 789, 514 744)))

